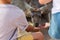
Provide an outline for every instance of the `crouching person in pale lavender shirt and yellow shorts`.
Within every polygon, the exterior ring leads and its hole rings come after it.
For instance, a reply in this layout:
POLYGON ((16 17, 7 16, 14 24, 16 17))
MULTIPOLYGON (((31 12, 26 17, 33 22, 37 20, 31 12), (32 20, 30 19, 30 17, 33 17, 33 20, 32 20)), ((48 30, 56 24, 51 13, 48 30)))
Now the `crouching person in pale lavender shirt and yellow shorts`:
MULTIPOLYGON (((12 5, 11 0, 0 0, 0 40, 18 40, 18 28, 21 32, 29 28, 39 29, 28 25, 24 12, 12 5)), ((20 34, 19 37, 23 38, 24 35, 24 33, 20 34)), ((29 37, 35 40, 44 40, 41 32, 31 33, 29 37)))

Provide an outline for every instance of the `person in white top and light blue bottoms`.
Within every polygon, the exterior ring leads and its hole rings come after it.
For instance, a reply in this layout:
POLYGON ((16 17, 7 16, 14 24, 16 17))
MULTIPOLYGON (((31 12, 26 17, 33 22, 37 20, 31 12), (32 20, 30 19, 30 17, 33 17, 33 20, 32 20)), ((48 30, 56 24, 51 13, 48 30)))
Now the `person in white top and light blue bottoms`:
MULTIPOLYGON (((52 0, 39 0, 41 4, 47 4, 52 0)), ((49 35, 53 40, 60 40, 60 0, 53 0, 52 17, 49 27, 49 35)))

